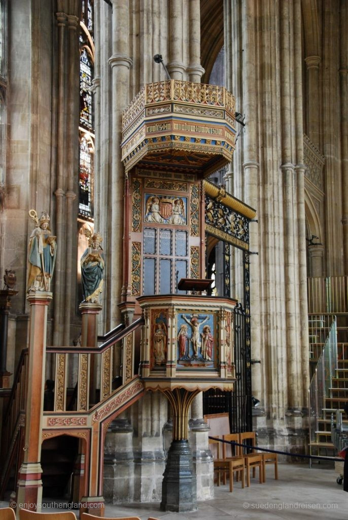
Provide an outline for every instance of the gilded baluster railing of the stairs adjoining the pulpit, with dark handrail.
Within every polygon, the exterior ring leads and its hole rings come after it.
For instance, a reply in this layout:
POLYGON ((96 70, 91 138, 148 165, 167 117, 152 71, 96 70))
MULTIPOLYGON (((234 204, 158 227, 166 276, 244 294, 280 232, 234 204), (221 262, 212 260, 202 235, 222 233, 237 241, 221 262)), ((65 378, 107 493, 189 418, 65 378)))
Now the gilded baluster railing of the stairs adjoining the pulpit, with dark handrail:
POLYGON ((134 375, 135 337, 143 323, 140 318, 128 327, 116 327, 103 336, 99 347, 47 347, 46 353, 56 356, 55 405, 51 411, 87 411, 108 398, 117 386, 126 384, 134 375), (114 363, 115 348, 122 350, 121 367, 114 363), (73 388, 77 388, 76 393, 73 388))

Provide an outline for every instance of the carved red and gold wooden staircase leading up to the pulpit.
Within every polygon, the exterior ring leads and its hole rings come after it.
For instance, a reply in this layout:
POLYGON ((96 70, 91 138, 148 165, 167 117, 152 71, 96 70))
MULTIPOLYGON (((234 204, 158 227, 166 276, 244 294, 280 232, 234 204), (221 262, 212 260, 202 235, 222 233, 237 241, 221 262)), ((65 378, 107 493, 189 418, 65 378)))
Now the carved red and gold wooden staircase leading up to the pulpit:
MULTIPOLYGON (((91 486, 95 496, 97 492, 102 495, 103 443, 106 431, 110 422, 144 393, 143 383, 134 369, 135 343, 138 344, 138 334, 143 323, 140 318, 128 327, 119 325, 105 336, 98 337, 98 340, 103 341, 98 348, 46 348, 46 354, 56 358, 56 389, 54 410, 43 412, 42 441, 66 434, 81 440, 79 449, 84 463, 81 464, 81 482, 77 486, 79 496, 76 501, 81 500, 82 496, 88 496, 91 486), (122 384, 113 388, 113 359, 117 348, 122 349, 122 384), (68 384, 71 382, 71 373, 74 372, 77 374, 74 385, 78 389, 77 399, 74 409, 67 411, 68 384), (95 384, 95 381, 100 382, 100 385, 95 384), (97 402, 93 402, 92 394, 100 395, 97 402)), ((9 484, 12 489, 16 486, 16 476, 23 461, 27 374, 28 349, 24 349, 3 414, 1 499, 9 484)), ((76 473, 78 472, 75 471, 76 473)))

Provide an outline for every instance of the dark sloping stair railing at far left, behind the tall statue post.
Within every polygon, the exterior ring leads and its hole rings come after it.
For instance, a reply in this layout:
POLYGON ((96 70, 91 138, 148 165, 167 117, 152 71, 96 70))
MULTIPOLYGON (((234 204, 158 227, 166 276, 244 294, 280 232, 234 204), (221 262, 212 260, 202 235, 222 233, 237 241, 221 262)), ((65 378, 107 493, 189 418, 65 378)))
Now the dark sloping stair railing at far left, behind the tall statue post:
POLYGON ((28 359, 28 348, 25 348, 22 350, 18 362, 11 394, 8 400, 7 408, 3 415, 0 458, 0 466, 2 467, 0 496, 2 496, 4 491, 2 486, 7 478, 7 472, 12 466, 16 466, 21 463, 21 461, 16 460, 17 457, 14 457, 15 449, 17 449, 17 455, 19 457, 23 454, 23 450, 20 450, 20 433, 21 428, 25 424, 28 359), (10 459, 12 459, 11 464, 10 459))

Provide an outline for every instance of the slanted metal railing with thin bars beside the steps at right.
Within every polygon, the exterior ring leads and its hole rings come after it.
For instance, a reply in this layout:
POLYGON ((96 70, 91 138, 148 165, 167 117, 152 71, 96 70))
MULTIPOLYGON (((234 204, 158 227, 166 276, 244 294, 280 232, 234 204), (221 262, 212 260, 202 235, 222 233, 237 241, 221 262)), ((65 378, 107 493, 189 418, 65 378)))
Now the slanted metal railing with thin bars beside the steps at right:
POLYGON ((311 443, 317 438, 319 419, 324 417, 325 399, 332 397, 332 378, 336 376, 337 368, 337 325, 336 316, 333 316, 322 354, 318 359, 309 387, 311 443))

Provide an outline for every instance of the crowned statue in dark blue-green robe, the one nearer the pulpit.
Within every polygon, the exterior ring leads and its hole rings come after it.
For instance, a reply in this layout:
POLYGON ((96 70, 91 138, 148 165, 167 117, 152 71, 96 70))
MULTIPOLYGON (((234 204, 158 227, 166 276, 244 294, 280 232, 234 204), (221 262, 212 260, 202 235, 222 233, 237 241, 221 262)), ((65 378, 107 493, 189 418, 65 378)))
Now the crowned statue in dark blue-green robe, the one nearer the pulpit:
POLYGON ((88 248, 81 257, 81 280, 84 302, 99 304, 100 293, 104 287, 104 252, 100 246, 100 233, 85 231, 88 238, 88 248))

